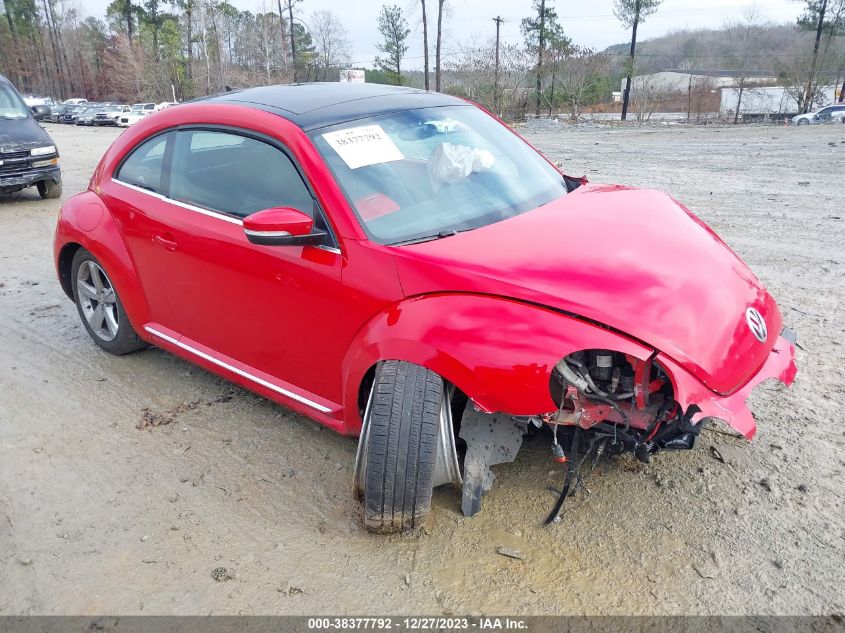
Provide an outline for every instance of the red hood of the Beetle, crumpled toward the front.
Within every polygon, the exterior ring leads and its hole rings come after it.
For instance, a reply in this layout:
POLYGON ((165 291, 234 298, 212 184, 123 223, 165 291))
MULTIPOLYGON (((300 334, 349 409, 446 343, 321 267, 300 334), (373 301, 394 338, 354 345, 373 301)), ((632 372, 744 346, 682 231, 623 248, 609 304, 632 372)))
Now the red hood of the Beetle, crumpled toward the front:
POLYGON ((782 328, 736 254, 668 195, 585 185, 538 209, 394 247, 406 295, 479 292, 564 310, 639 339, 713 391, 741 387, 782 328), (761 343, 746 321, 766 320, 761 343))

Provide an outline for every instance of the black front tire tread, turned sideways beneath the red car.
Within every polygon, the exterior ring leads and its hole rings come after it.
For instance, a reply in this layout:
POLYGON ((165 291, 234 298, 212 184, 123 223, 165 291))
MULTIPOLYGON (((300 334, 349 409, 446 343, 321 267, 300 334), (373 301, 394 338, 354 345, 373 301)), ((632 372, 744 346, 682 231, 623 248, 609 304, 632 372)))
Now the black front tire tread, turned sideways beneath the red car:
POLYGON ((402 361, 376 368, 365 414, 364 526, 388 534, 420 526, 431 509, 443 379, 402 361))

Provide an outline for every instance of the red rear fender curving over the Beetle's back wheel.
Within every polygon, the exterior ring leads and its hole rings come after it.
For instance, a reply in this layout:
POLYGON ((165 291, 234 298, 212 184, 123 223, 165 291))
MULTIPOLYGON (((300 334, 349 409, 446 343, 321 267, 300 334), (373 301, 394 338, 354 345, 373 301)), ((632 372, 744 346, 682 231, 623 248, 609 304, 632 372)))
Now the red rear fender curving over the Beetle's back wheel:
POLYGON ((150 316, 135 266, 114 218, 99 196, 90 190, 73 196, 62 206, 56 225, 53 249, 56 271, 65 294, 71 298, 71 280, 64 265, 68 249, 75 249, 77 245, 90 251, 103 265, 117 289, 129 322, 140 336, 145 337, 141 326, 150 316))

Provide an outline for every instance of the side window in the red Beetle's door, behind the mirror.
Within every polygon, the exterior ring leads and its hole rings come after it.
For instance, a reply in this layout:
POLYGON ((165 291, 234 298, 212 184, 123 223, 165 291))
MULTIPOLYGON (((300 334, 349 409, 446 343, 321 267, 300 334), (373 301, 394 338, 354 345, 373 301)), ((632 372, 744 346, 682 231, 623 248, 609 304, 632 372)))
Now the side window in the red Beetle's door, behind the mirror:
POLYGON ((271 207, 314 211, 311 194, 282 151, 228 132, 177 133, 170 197, 239 217, 271 207))

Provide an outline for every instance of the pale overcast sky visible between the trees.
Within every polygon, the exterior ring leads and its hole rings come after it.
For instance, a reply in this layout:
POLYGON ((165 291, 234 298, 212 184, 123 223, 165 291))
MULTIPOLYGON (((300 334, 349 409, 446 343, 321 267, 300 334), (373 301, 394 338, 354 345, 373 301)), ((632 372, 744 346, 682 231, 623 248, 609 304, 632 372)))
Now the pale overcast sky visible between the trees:
MULTIPOLYGON (((105 14, 110 0, 82 0, 83 12, 97 17, 105 14)), ((566 34, 576 44, 604 49, 611 44, 625 42, 629 33, 613 15, 613 0, 547 0, 557 10, 566 34)), ((239 9, 251 11, 275 7, 276 0, 229 0, 239 9)), ((461 42, 473 37, 481 40, 495 34, 492 18, 499 15, 502 40, 520 41, 519 22, 531 11, 531 0, 447 0, 449 14, 444 19, 445 42, 448 54, 461 42)), ((355 65, 371 65, 381 40, 377 19, 382 4, 398 4, 408 16, 411 27, 410 49, 405 66, 422 68, 422 26, 419 0, 302 0, 295 11, 307 23, 312 12, 328 9, 337 14, 349 31, 352 60, 355 65)), ((744 11, 756 7, 761 18, 773 22, 794 23, 801 8, 801 0, 664 0, 658 12, 640 26, 638 39, 663 35, 682 28, 719 27, 725 21, 739 19, 744 11)), ((429 20, 434 23, 437 0, 428 0, 429 20)), ((294 13, 296 15, 296 13, 294 13)), ((431 35, 431 34, 429 34, 431 35)), ((432 38, 433 42, 433 38, 432 38)), ((432 45, 432 57, 433 57, 432 45)), ((433 59, 432 59, 433 64, 433 59)))

